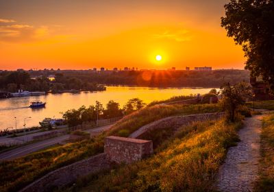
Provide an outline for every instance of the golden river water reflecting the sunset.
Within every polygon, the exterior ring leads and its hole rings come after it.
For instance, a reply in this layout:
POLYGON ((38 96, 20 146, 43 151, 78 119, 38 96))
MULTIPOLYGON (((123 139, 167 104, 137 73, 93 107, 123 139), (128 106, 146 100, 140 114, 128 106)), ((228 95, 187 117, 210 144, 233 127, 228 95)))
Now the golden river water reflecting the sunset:
POLYGON ((119 102, 120 106, 132 98, 138 97, 149 104, 151 101, 169 99, 177 95, 204 94, 210 88, 147 88, 129 86, 107 86, 103 92, 92 93, 62 93, 48 94, 32 97, 13 97, 10 99, 0 99, 0 130, 5 128, 23 128, 24 119, 26 127, 39 125, 39 121, 45 117, 62 117, 60 112, 80 106, 95 105, 95 101, 100 101, 103 106, 111 99, 119 102), (29 108, 31 101, 40 100, 47 102, 45 108, 29 108), (16 119, 14 118, 16 117, 16 119))

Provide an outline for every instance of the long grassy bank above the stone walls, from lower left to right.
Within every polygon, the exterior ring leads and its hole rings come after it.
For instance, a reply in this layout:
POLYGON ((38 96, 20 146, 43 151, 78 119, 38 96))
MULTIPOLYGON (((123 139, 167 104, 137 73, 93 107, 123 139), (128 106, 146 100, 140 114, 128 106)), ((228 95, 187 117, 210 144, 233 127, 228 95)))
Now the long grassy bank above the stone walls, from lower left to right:
POLYGON ((220 110, 221 108, 216 104, 143 108, 124 117, 113 126, 112 130, 95 139, 46 149, 23 158, 0 163, 0 191, 18 191, 49 171, 103 152, 105 136, 127 136, 142 125, 172 115, 190 115, 220 110))

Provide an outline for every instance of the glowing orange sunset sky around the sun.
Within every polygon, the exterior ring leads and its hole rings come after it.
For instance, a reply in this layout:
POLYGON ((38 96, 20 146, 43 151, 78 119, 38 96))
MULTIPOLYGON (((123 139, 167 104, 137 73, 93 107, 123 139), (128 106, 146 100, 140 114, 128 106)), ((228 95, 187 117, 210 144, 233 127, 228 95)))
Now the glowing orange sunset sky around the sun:
POLYGON ((227 2, 0 0, 0 69, 243 69, 227 2))

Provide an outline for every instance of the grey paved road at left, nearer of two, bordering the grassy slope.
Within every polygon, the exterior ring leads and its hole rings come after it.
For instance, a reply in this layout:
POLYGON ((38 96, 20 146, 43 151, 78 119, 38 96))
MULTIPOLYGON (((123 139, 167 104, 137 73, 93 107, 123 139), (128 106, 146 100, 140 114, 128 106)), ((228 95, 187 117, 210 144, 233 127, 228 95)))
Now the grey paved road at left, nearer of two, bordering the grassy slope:
MULTIPOLYGON (((103 132, 105 130, 109 130, 112 125, 105 125, 99 128, 93 128, 89 130, 85 130, 85 132, 90 132, 90 134, 97 134, 98 132, 103 132)), ((62 141, 69 139, 69 134, 57 136, 51 139, 46 139, 44 141, 39 141, 37 143, 32 143, 29 145, 25 145, 23 147, 18 147, 16 149, 12 149, 8 152, 3 152, 0 154, 0 160, 12 160, 14 158, 18 158, 21 156, 25 156, 27 154, 37 152, 40 149, 44 149, 45 147, 49 147, 51 145, 55 145, 57 143, 61 143, 62 141)))

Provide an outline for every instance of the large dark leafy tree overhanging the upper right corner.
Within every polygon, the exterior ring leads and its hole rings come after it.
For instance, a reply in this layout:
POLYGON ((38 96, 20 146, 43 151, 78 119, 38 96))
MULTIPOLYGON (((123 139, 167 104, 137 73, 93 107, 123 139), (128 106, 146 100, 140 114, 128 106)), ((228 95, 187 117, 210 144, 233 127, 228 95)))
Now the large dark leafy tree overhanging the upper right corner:
POLYGON ((253 77, 262 76, 274 90, 274 1, 231 0, 225 5, 221 26, 227 36, 242 45, 247 62, 245 69, 253 77))

